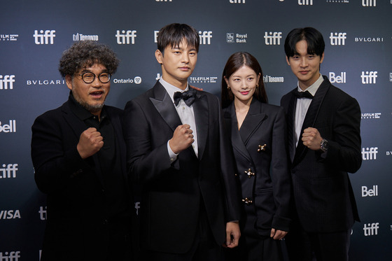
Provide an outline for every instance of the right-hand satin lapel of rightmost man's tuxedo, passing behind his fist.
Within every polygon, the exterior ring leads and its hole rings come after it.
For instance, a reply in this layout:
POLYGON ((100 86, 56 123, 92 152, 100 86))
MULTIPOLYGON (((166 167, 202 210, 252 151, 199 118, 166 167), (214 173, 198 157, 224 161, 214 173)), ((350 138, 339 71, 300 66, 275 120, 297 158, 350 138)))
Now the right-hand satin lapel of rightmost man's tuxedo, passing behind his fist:
MULTIPOLYGON (((330 82, 327 78, 324 78, 323 83, 321 83, 320 87, 316 94, 314 94, 314 98, 311 100, 309 108, 307 109, 307 114, 304 118, 304 123, 302 124, 301 135, 304 132, 304 129, 308 127, 314 127, 314 122, 316 121, 318 111, 320 111, 321 103, 325 97, 325 94, 330 89, 330 82)), ((293 164, 300 162, 302 157, 304 156, 304 152, 306 151, 307 147, 301 141, 298 141, 297 150, 295 150, 295 157, 293 160, 293 164)))

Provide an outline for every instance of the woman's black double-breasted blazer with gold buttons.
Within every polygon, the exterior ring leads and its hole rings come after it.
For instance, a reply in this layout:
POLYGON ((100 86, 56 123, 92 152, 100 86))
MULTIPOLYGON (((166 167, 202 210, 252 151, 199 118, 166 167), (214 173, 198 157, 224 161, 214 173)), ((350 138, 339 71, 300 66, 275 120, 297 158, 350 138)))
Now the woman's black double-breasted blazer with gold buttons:
POLYGON ((241 199, 252 200, 251 208, 243 211, 247 218, 241 218, 249 224, 241 227, 264 237, 269 237, 272 227, 288 231, 291 181, 283 108, 253 99, 240 129, 234 103, 223 113, 231 133, 241 199), (248 175, 249 169, 254 175, 248 175))

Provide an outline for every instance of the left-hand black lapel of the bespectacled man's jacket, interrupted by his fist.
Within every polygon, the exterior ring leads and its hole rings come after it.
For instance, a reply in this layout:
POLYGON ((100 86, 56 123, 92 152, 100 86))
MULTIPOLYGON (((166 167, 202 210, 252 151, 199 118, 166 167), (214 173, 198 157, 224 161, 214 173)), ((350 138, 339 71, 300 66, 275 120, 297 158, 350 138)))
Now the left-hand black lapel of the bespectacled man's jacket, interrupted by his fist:
MULTIPOLYGON (((69 108, 69 101, 64 104, 62 111, 63 111, 63 116, 64 119, 66 120, 66 122, 68 123, 69 127, 71 127, 73 134, 75 134, 76 139, 79 140, 80 138, 80 134, 82 134, 82 132, 84 132, 87 129, 87 126, 85 125, 85 122, 83 122, 83 120, 80 120, 75 114, 73 114, 73 112, 71 111, 71 108, 69 108)), ((99 164, 99 160, 98 160, 98 155, 97 153, 95 153, 94 155, 91 156, 92 161, 94 162, 94 167, 92 167, 92 169, 94 169, 94 172, 97 174, 97 178, 99 179, 99 181, 101 182, 102 185, 104 185, 104 176, 102 175, 101 172, 101 167, 99 164)), ((88 160, 88 159, 86 159, 88 160)))

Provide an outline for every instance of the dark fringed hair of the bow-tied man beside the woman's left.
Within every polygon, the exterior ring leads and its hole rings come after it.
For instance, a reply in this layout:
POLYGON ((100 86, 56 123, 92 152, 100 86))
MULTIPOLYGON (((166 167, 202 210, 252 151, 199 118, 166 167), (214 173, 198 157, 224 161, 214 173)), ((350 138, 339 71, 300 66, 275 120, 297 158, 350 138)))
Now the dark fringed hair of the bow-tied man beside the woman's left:
POLYGON ((167 24, 162 27, 158 33, 158 50, 165 51, 167 46, 172 48, 178 46, 185 38, 188 46, 193 46, 196 52, 199 52, 200 37, 195 28, 190 27, 188 24, 167 24))

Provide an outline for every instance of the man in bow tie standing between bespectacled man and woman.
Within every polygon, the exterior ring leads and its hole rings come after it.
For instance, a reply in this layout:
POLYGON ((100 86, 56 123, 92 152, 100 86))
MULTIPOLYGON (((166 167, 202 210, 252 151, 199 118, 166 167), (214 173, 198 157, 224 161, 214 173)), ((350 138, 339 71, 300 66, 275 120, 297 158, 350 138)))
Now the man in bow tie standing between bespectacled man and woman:
POLYGON ((141 185, 147 260, 220 260, 239 240, 239 202, 218 97, 189 90, 199 35, 187 24, 158 34, 162 78, 125 106, 128 171, 141 185))

